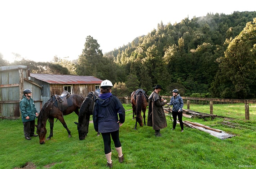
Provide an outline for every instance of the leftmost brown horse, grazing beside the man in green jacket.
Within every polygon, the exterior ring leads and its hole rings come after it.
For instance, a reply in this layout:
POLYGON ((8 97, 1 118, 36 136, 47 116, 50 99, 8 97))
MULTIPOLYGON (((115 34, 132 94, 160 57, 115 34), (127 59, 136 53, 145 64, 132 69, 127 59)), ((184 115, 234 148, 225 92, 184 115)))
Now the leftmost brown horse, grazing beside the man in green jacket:
POLYGON ((54 118, 59 119, 59 121, 62 123, 63 127, 66 128, 67 133, 69 134, 69 137, 71 137, 71 134, 70 134, 71 132, 70 132, 69 128, 67 128, 66 122, 63 118, 63 115, 67 115, 72 112, 75 112, 78 115, 79 108, 80 108, 81 104, 83 103, 83 100, 84 100, 84 98, 78 94, 71 94, 66 99, 61 99, 58 95, 53 95, 44 104, 43 108, 40 111, 38 119, 37 119, 36 133, 39 136, 39 143, 40 144, 45 143, 45 135, 47 133, 45 126, 46 126, 47 119, 50 122, 50 135, 47 137, 47 140, 50 140, 51 137, 53 136, 54 118), (63 100, 66 100, 67 105, 66 106, 61 105, 61 108, 60 108, 60 105, 58 105, 58 103, 59 103, 58 100, 61 102, 63 102, 63 100), (62 109, 62 111, 60 109, 62 109))

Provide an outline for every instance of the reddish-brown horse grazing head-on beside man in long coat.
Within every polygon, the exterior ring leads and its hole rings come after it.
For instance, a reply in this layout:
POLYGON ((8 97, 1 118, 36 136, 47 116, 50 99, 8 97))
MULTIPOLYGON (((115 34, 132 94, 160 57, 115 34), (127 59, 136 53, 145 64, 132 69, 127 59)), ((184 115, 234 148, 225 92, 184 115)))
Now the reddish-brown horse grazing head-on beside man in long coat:
POLYGON ((134 130, 137 130, 137 122, 140 126, 143 126, 142 122, 142 116, 141 111, 143 112, 143 118, 144 118, 144 125, 146 126, 146 109, 147 109, 147 95, 145 94, 145 91, 142 89, 138 89, 136 91, 132 92, 131 95, 131 103, 132 103, 132 112, 133 112, 133 118, 136 116, 136 123, 134 130))

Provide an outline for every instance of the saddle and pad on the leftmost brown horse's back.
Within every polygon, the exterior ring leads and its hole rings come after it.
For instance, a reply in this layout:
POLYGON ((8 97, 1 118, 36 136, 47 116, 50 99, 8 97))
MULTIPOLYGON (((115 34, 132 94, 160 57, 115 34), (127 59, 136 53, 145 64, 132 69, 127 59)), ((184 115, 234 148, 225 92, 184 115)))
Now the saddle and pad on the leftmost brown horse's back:
POLYGON ((67 107, 73 104, 72 99, 69 98, 70 93, 68 91, 63 91, 61 95, 54 95, 56 102, 54 103, 55 107, 58 107, 60 111, 65 111, 67 107), (57 104, 56 104, 57 103, 57 104))

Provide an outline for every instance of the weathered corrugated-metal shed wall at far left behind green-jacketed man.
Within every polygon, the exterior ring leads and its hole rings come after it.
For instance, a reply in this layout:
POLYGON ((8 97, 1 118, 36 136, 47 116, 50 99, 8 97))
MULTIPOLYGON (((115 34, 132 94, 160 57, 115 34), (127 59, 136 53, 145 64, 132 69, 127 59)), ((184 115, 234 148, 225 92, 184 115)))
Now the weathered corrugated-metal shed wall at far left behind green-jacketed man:
POLYGON ((0 116, 2 118, 20 118, 19 102, 23 90, 33 91, 33 100, 37 111, 42 106, 41 88, 27 78, 27 66, 4 66, 0 71, 0 116))

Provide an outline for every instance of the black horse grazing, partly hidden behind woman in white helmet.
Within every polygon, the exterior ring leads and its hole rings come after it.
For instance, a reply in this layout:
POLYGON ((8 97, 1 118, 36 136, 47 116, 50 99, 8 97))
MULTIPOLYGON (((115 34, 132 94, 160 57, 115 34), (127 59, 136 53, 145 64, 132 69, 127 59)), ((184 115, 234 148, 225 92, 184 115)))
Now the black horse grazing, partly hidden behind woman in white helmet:
MULTIPOLYGON (((81 104, 78 122, 74 122, 77 125, 79 140, 84 140, 88 133, 90 116, 93 113, 94 100, 100 93, 91 91, 85 97, 84 102, 81 104)), ((99 136, 100 133, 98 132, 99 136)))

